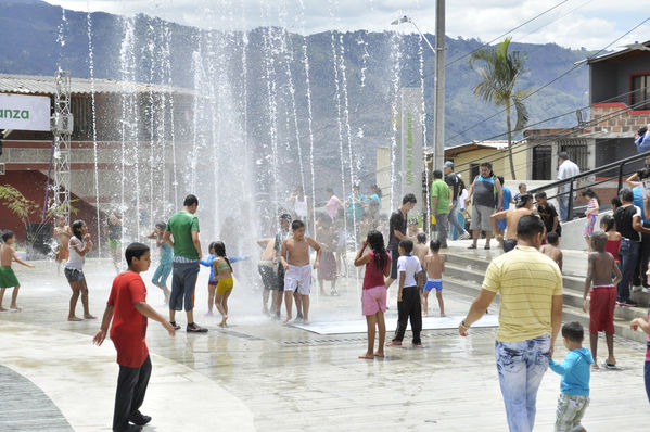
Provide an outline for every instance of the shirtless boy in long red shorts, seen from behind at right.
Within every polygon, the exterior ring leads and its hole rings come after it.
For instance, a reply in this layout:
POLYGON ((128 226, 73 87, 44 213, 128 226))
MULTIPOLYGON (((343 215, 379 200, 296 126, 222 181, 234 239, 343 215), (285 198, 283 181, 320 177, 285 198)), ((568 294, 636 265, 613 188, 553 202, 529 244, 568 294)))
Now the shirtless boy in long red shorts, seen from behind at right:
POLYGON ((594 368, 598 368, 596 360, 598 347, 598 332, 604 331, 608 358, 602 366, 608 369, 616 367, 614 359, 614 308, 616 307, 616 284, 621 281, 621 270, 614 263, 614 256, 604 251, 607 234, 602 231, 594 232, 591 236, 591 250, 587 264, 587 279, 585 280, 585 293, 583 295, 583 310, 587 312, 587 294, 591 283, 589 298, 589 342, 594 368), (614 275, 614 280, 612 280, 614 275))

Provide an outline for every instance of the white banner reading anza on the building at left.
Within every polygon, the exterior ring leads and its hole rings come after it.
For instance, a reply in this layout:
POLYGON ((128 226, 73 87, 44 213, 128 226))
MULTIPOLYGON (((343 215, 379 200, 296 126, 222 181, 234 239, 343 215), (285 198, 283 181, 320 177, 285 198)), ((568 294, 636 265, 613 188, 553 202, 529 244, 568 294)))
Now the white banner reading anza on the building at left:
POLYGON ((50 130, 50 98, 0 94, 0 129, 50 130))

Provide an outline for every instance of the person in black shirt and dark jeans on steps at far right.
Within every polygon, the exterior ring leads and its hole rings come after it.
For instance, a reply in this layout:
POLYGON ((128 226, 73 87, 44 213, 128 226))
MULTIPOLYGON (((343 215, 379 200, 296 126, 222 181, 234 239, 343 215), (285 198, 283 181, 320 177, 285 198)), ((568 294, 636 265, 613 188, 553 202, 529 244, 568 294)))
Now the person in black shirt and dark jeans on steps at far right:
MULTIPOLYGON (((621 258, 621 274, 623 279, 619 283, 619 295, 616 304, 619 306, 637 306, 629 298, 629 285, 634 279, 634 272, 639 259, 639 249, 641 242, 640 233, 650 233, 650 229, 643 228, 641 225, 641 209, 634 205, 634 193, 625 188, 619 192, 622 205, 614 212, 614 221, 616 231, 621 233, 621 250, 619 257, 621 258)), ((647 199, 643 199, 643 204, 647 199)))

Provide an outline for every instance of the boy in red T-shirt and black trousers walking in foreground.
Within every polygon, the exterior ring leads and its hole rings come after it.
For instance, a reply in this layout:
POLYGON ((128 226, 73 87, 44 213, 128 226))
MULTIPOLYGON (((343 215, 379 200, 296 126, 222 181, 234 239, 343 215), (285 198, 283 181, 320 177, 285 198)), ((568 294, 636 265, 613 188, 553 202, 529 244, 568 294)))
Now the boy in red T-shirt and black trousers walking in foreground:
POLYGON ((149 246, 131 243, 125 256, 128 271, 117 275, 113 280, 102 328, 92 340, 101 345, 113 320, 111 340, 117 350, 119 365, 113 414, 113 431, 116 432, 140 431, 151 421, 151 417, 143 416, 139 410, 151 376, 151 360, 144 341, 146 318, 162 323, 170 335, 175 333, 169 321, 146 304, 146 288, 140 272, 146 271, 151 265, 149 246))

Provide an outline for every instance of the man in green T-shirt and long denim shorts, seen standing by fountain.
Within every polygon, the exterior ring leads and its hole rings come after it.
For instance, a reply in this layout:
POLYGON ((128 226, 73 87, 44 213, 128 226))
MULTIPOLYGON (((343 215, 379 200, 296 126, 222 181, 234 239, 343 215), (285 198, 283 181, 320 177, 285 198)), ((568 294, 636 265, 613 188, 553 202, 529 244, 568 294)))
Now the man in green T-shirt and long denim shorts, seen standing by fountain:
POLYGON ((169 218, 163 234, 163 241, 174 247, 169 322, 175 330, 180 329, 180 326, 176 323, 176 312, 182 310, 184 304, 188 316, 188 333, 205 333, 207 331, 194 322, 194 289, 199 277, 199 261, 202 257, 199 218, 194 215, 197 207, 196 196, 186 196, 182 209, 169 218))

